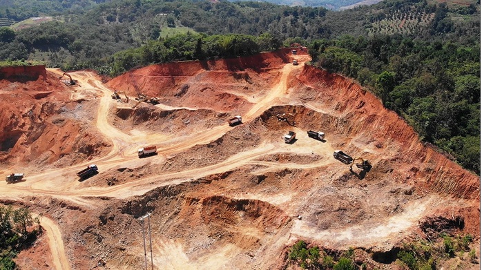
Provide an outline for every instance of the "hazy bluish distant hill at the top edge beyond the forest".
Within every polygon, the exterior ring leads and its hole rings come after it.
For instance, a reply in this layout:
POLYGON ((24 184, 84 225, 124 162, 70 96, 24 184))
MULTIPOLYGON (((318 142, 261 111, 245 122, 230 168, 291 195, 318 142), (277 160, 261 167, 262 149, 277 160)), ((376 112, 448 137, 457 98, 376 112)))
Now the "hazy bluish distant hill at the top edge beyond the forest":
MULTIPOLYGON (((230 1, 238 2, 240 0, 230 1)), ((274 3, 277 5, 323 7, 329 10, 345 10, 361 5, 372 5, 381 1, 383 0, 264 0, 264 2, 274 3)))

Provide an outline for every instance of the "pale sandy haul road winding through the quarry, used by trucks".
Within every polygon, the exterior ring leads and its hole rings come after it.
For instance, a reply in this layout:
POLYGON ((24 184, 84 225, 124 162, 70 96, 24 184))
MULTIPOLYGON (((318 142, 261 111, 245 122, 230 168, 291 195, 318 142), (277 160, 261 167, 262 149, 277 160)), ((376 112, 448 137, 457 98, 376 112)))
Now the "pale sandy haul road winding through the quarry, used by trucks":
MULTIPOLYGON (((264 110, 267 110, 275 104, 280 104, 279 98, 287 94, 287 78, 295 71, 300 70, 302 65, 293 66, 291 64, 285 65, 281 70, 280 81, 270 91, 267 91, 264 97, 258 97, 258 103, 256 103, 247 113, 243 116, 244 122, 249 122, 252 119, 258 117, 264 110)), ((58 69, 48 69, 51 73, 61 75, 62 71, 58 69)), ((81 188, 79 182, 76 181, 75 173, 87 164, 97 164, 101 166, 103 170, 109 168, 116 168, 119 164, 126 162, 138 162, 137 147, 139 144, 145 144, 145 142, 151 142, 160 148, 158 157, 162 157, 164 154, 180 153, 189 149, 197 144, 207 144, 214 139, 222 137, 227 131, 230 131, 232 127, 228 125, 216 126, 208 131, 199 131, 197 134, 191 134, 185 138, 179 138, 178 135, 163 135, 160 133, 125 133, 115 128, 108 121, 108 112, 111 106, 115 103, 110 95, 112 90, 104 86, 102 82, 93 74, 87 71, 78 71, 70 73, 73 79, 78 81, 77 93, 73 94, 72 98, 78 98, 78 93, 95 93, 99 97, 99 108, 97 110, 97 118, 95 124, 102 134, 110 139, 113 143, 113 148, 108 155, 101 157, 97 160, 91 160, 84 164, 79 164, 70 167, 51 169, 44 171, 37 175, 29 175, 28 181, 17 183, 15 185, 3 184, 2 197, 17 198, 28 195, 50 195, 57 197, 61 200, 70 200, 75 204, 79 204, 84 207, 89 207, 90 202, 86 197, 90 196, 109 196, 117 198, 126 198, 133 195, 142 195, 151 190, 155 186, 177 184, 192 180, 193 177, 203 177, 214 173, 222 173, 224 171, 230 171, 234 168, 244 166, 246 164, 260 164, 256 160, 264 155, 271 155, 273 153, 282 153, 291 151, 288 148, 279 148, 273 144, 264 144, 258 148, 244 151, 229 157, 224 162, 207 166, 204 168, 195 168, 187 171, 179 171, 175 173, 166 173, 164 175, 155 175, 151 177, 144 177, 142 180, 136 182, 129 182, 126 184, 120 184, 118 186, 111 187, 89 187, 81 188), (194 138, 194 139, 193 139, 194 138), (175 140, 174 140, 175 139, 175 140), (57 175, 63 175, 63 177, 57 177, 57 175), (61 179, 62 178, 62 179, 61 179), (148 184, 148 185, 147 185, 148 184)), ((161 104, 160 107, 163 105, 161 104)), ((168 109, 180 109, 169 107, 168 109)), ((298 164, 284 164, 288 167, 316 167, 322 166, 325 162, 317 162, 309 165, 298 164)), ((276 163, 263 163, 265 170, 276 169, 280 167, 280 164, 276 163)), ((42 219, 41 226, 46 230, 48 235, 50 250, 56 269, 70 269, 68 264, 68 258, 64 250, 64 243, 62 241, 62 235, 59 227, 53 220, 46 217, 42 219)))

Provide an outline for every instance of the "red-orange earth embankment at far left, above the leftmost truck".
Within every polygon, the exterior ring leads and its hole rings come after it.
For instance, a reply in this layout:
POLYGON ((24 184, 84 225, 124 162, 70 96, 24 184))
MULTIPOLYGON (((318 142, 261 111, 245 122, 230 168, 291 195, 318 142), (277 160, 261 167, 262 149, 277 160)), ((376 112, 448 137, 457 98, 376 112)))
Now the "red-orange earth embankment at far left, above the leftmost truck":
POLYGON ((95 104, 83 99, 70 101, 73 88, 46 73, 44 66, 4 70, 8 79, 0 80, 3 164, 72 164, 105 151, 108 142, 99 139, 87 117, 86 110, 95 104))

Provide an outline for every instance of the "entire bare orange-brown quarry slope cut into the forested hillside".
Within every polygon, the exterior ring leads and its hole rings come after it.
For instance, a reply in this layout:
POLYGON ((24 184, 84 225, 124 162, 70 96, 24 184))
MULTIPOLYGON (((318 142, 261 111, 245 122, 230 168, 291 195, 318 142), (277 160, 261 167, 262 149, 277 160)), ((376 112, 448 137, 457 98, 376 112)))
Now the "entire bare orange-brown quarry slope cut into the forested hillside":
POLYGON ((403 241, 442 230, 475 235, 480 255, 480 178, 358 84, 287 52, 148 66, 107 83, 77 71, 69 87, 61 70, 1 70, 0 172, 26 178, 0 184, 0 199, 44 214, 21 269, 142 269, 146 213, 155 269, 281 269, 298 240, 393 269, 403 241), (234 115, 243 123, 231 127, 234 115), (138 158, 148 145, 158 154, 138 158), (372 169, 350 172, 336 149, 372 169), (88 164, 99 173, 79 181, 88 164))

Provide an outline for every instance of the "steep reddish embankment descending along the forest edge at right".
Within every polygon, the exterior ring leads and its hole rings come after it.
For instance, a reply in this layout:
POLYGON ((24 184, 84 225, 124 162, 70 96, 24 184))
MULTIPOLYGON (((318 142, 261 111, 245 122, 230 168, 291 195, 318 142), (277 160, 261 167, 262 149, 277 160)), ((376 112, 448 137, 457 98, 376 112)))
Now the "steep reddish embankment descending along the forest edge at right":
POLYGON ((377 148, 393 153, 394 157, 389 162, 394 167, 403 166, 407 169, 407 182, 413 182, 420 189, 454 197, 480 197, 477 175, 421 143, 413 128, 396 113, 384 108, 377 97, 358 84, 340 75, 305 66, 299 81, 293 81, 293 86, 301 88, 298 95, 304 102, 316 100, 328 106, 336 115, 343 115, 343 121, 337 119, 335 124, 340 134, 354 137, 365 145, 375 142, 377 148), (365 138, 372 138, 372 142, 365 138))

